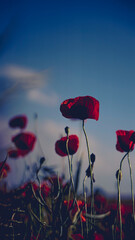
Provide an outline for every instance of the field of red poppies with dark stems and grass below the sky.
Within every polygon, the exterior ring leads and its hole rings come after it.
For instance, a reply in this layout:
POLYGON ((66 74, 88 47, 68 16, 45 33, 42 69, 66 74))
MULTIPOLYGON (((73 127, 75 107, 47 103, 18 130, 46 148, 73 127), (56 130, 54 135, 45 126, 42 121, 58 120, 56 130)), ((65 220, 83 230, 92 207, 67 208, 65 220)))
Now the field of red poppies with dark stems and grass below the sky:
MULTIPOLYGON (((77 194, 81 164, 73 176, 73 156, 79 148, 79 138, 70 134, 65 127, 65 136, 55 143, 55 151, 60 157, 67 157, 69 180, 59 176, 46 166, 45 156, 41 156, 39 168, 35 171, 35 180, 26 182, 17 189, 0 190, 0 239, 1 240, 127 240, 135 238, 135 214, 132 167, 130 152, 134 149, 135 132, 133 130, 116 131, 116 150, 123 152, 119 169, 116 169, 116 199, 107 199, 100 192, 94 191, 94 163, 96 156, 91 152, 85 131, 86 119, 99 118, 99 101, 91 96, 67 99, 60 105, 63 117, 80 119, 86 140, 88 168, 82 182, 83 192, 77 194), (122 164, 127 159, 131 200, 121 199, 122 164), (48 172, 40 179, 39 173, 48 172), (89 192, 86 191, 89 180, 89 192)), ((26 130, 28 119, 25 115, 9 120, 11 128, 18 129, 18 134, 11 141, 4 161, 0 162, 0 181, 2 183, 10 172, 8 158, 29 156, 34 150, 37 136, 26 130)), ((18 160, 19 161, 19 160, 18 160)), ((1 184, 2 186, 2 184, 1 184)))

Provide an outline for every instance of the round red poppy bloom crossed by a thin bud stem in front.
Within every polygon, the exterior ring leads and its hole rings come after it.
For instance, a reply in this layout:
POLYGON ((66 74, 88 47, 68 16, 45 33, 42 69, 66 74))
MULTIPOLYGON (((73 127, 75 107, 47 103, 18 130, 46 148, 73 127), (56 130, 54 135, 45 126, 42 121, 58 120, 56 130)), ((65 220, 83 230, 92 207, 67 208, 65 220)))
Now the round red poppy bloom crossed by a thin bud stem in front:
MULTIPOLYGON (((55 143, 55 151, 61 157, 65 157, 68 155, 67 149, 66 149, 66 141, 67 141, 67 137, 62 137, 60 140, 58 140, 55 143)), ((78 148, 79 148, 79 138, 76 135, 70 135, 69 141, 68 141, 69 154, 70 155, 75 154, 78 148)))

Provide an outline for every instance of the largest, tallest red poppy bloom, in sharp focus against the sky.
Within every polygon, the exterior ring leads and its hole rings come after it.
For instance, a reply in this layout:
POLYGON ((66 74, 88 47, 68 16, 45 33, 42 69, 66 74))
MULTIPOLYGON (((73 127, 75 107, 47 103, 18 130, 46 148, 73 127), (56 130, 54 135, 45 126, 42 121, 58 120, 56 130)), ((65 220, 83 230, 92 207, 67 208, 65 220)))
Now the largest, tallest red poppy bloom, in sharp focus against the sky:
POLYGON ((70 98, 61 103, 60 111, 66 118, 98 120, 99 101, 90 96, 70 98))

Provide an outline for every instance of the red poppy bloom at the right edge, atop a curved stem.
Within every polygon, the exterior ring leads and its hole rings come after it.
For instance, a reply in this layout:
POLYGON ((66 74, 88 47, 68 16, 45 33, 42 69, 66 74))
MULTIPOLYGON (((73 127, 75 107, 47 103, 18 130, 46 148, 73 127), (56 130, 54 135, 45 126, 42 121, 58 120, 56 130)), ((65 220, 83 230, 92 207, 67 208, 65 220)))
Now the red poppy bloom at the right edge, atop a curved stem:
POLYGON ((125 130, 118 130, 116 131, 117 135, 117 144, 116 149, 120 152, 128 152, 133 151, 134 144, 133 141, 130 140, 130 137, 134 133, 133 130, 125 131, 125 130))

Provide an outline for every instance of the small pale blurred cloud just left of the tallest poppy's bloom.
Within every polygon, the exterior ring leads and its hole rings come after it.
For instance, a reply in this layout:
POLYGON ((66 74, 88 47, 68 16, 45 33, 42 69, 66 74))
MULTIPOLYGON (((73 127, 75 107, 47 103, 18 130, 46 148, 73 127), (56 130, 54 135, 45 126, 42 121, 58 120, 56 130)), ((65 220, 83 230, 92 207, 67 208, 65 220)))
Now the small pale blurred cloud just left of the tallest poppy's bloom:
POLYGON ((28 92, 28 99, 45 106, 55 106, 58 102, 58 95, 54 92, 46 94, 40 90, 33 89, 28 92))

